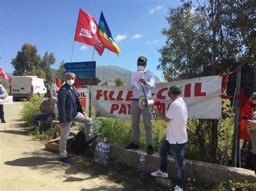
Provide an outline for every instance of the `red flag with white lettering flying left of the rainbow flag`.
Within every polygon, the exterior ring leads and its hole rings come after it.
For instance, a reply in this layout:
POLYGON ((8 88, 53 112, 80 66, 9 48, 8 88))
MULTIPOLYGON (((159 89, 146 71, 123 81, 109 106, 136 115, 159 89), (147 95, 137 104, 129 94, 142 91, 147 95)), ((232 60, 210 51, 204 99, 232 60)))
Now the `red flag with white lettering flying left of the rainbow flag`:
POLYGON ((75 41, 95 47, 99 55, 104 51, 104 45, 100 41, 99 26, 95 19, 89 14, 79 10, 75 41))

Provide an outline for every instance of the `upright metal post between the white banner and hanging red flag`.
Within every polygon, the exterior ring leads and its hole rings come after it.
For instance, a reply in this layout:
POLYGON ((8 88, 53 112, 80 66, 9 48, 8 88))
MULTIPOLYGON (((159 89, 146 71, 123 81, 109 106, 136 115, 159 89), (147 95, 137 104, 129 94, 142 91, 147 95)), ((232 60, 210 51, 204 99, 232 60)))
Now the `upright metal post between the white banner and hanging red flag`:
MULTIPOLYGON (((238 140, 239 131, 239 113, 240 113, 240 91, 241 91, 241 65, 237 66, 237 92, 235 94, 235 121, 234 121, 234 134, 233 134, 233 147, 232 147, 232 166, 237 167, 238 148, 240 148, 238 140)), ((240 159, 239 159, 240 160, 240 159)))

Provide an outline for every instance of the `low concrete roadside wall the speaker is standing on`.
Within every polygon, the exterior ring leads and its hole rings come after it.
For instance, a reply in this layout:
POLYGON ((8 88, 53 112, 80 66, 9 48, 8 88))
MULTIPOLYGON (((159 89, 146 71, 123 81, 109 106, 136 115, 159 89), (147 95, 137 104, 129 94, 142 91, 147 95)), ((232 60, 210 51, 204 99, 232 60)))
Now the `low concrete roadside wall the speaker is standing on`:
MULTIPOLYGON (((73 135, 73 134, 72 134, 73 135)), ((103 139, 98 139, 97 142, 102 142, 103 139)), ((92 155, 95 152, 96 142, 88 148, 88 152, 92 155)), ((154 172, 160 166, 159 154, 154 152, 152 155, 147 154, 144 150, 126 150, 125 145, 110 143, 110 159, 121 160, 123 164, 140 169, 139 155, 145 155, 145 172, 154 172)), ((192 161, 185 159, 186 178, 196 178, 204 183, 223 182, 235 180, 248 183, 256 183, 254 171, 244 168, 228 167, 218 164, 211 164, 202 161, 192 161)), ((168 172, 171 180, 177 178, 177 168, 175 167, 174 159, 168 156, 168 172)))

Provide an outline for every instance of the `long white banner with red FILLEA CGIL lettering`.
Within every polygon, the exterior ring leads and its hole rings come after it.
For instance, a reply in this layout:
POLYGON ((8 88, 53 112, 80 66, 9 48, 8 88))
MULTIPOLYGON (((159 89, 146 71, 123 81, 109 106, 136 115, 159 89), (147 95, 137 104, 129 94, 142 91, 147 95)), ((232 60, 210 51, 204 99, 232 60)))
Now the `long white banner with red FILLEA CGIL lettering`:
MULTIPOLYGON (((188 108, 188 118, 221 118, 221 77, 207 76, 196 79, 157 84, 152 99, 158 98, 158 109, 166 112, 172 100, 167 95, 170 86, 181 86, 188 108)), ((131 118, 132 90, 129 87, 91 87, 92 105, 102 117, 131 118)))

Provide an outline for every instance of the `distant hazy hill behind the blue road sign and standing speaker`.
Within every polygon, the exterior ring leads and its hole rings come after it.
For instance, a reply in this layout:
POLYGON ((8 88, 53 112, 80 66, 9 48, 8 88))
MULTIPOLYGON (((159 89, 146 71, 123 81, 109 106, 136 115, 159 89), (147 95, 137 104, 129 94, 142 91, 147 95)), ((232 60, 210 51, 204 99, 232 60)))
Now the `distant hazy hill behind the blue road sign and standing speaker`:
MULTIPOLYGON (((114 80, 117 77, 122 77, 126 81, 129 81, 130 75, 132 74, 131 70, 127 70, 118 66, 96 66, 96 74, 99 76, 100 81, 115 84, 114 80)), ((157 76, 154 76, 156 79, 156 83, 161 83, 157 76)))

